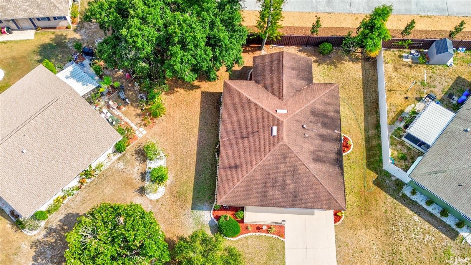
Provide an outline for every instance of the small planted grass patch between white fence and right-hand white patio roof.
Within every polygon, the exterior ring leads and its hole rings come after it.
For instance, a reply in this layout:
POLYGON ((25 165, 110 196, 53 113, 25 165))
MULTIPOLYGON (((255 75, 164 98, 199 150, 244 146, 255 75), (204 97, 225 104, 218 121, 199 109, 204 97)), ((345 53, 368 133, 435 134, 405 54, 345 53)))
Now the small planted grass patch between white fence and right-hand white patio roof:
POLYGON ((398 141, 394 137, 390 137, 389 145, 391 149, 391 157, 394 158, 394 165, 406 171, 412 166, 417 157, 423 154, 414 148, 406 145, 403 141, 398 141))

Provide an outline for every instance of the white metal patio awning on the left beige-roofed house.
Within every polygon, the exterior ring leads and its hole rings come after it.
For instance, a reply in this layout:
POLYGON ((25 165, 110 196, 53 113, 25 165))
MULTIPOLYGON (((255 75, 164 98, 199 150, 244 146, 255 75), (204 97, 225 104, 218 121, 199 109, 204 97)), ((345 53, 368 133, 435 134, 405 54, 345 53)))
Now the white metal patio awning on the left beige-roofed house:
POLYGON ((73 64, 57 73, 57 77, 73 87, 79 95, 83 96, 100 84, 87 75, 77 64, 73 64))

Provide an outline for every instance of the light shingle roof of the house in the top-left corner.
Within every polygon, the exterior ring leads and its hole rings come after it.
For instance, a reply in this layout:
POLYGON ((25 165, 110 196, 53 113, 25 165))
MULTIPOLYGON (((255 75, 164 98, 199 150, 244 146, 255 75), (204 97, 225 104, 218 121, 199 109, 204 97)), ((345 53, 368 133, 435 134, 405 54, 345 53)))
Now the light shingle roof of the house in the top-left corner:
POLYGON ((68 16, 69 0, 0 0, 0 18, 68 16))

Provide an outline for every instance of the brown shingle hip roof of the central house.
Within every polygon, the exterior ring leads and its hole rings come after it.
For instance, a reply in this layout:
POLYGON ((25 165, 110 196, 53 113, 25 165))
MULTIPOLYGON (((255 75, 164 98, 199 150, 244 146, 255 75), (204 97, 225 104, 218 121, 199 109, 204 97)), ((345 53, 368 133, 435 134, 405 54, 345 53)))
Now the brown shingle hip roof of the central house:
POLYGON ((253 81, 224 82, 221 127, 218 204, 346 209, 339 86, 312 83, 310 58, 254 57, 253 81))

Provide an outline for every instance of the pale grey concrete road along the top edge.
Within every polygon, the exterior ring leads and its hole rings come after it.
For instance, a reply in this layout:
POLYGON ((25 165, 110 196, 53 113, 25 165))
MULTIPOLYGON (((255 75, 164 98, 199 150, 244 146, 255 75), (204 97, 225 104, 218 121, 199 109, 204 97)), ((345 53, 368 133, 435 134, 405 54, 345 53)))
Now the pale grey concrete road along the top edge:
MULTIPOLYGON (((286 0, 284 11, 369 14, 373 8, 392 4, 393 14, 471 17, 469 0, 286 0)), ((260 2, 243 0, 245 10, 260 10, 260 2)))

